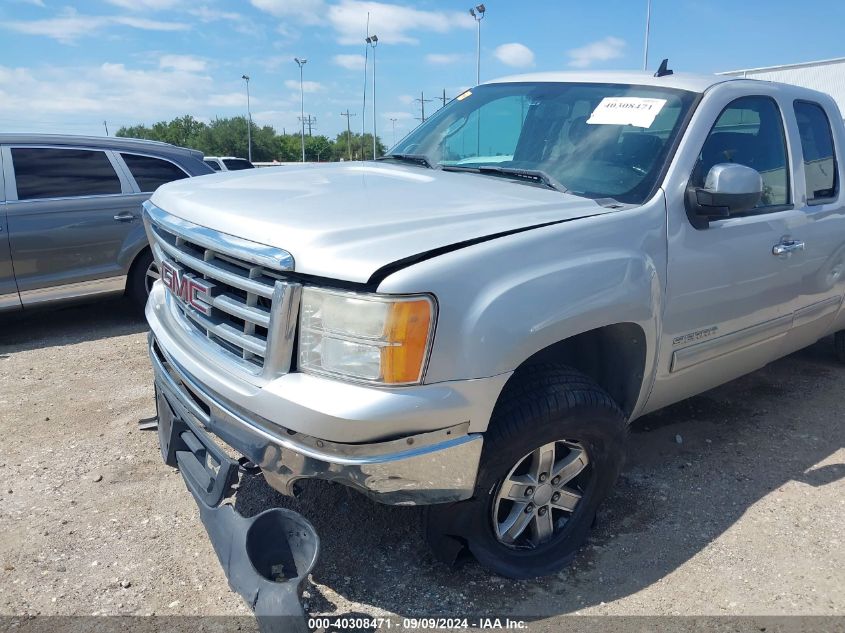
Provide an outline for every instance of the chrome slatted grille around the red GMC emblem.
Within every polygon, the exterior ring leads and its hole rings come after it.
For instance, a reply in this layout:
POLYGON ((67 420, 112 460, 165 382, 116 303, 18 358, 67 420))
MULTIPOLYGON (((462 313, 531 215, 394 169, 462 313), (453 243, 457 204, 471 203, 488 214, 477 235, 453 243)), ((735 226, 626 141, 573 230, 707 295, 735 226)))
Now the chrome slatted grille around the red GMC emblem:
POLYGON ((205 315, 168 292, 174 316, 206 349, 251 374, 272 377, 290 369, 301 287, 285 279, 290 254, 176 218, 147 202, 144 221, 157 261, 176 263, 213 283, 205 315))

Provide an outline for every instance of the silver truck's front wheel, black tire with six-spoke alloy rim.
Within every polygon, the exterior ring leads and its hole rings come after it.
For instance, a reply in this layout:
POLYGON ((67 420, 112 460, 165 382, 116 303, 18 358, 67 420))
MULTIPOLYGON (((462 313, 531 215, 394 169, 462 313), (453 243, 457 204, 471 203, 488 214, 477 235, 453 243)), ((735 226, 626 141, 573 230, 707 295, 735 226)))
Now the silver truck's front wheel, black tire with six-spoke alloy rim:
POLYGON ((613 487, 626 436, 622 411, 590 378, 559 365, 520 369, 485 434, 474 497, 427 509, 429 543, 436 554, 465 543, 508 578, 557 572, 613 487))

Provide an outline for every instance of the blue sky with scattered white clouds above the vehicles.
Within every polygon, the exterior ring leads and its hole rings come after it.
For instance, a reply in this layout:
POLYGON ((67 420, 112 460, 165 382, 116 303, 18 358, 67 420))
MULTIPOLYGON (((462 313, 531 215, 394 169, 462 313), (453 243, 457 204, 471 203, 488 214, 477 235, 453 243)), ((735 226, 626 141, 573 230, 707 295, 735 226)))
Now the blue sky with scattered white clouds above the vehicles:
MULTIPOLYGON (((372 131, 364 53, 378 36, 376 125, 389 145, 475 83, 476 22, 461 0, 0 0, 0 131, 104 134, 191 114, 246 114, 314 134, 372 131), (391 121, 395 119, 395 121, 391 121)), ((481 79, 639 69, 646 0, 489 0, 481 79)), ((711 73, 845 56, 842 0, 652 0, 649 67, 711 73)))

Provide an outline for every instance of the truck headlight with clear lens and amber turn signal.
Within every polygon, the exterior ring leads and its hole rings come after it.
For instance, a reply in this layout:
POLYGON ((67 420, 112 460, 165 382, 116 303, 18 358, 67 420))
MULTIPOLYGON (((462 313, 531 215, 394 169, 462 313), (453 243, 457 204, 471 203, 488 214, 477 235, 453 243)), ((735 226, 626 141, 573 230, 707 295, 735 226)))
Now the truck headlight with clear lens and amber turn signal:
POLYGON ((422 380, 434 300, 304 288, 299 369, 374 383, 422 380))

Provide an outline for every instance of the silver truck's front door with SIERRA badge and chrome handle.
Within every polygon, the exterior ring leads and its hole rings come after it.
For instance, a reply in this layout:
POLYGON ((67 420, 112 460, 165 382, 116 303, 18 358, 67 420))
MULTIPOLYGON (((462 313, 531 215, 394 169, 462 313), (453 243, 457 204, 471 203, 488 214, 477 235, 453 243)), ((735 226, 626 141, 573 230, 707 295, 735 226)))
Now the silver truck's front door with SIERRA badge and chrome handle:
POLYGON ((689 184, 703 186, 713 165, 739 163, 761 174, 763 195, 751 212, 698 227, 683 195, 667 195, 667 288, 649 411, 780 356, 806 270, 796 245, 811 219, 793 204, 778 102, 729 100, 700 147, 689 184))

